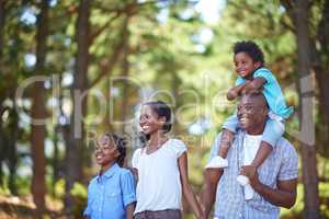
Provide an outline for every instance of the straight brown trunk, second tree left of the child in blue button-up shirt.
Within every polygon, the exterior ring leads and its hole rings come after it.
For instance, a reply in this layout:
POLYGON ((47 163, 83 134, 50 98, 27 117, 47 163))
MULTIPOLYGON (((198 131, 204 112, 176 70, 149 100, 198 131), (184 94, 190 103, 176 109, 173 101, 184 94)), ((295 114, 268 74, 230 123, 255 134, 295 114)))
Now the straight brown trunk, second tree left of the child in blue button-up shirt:
MULTIPOLYGON (((37 16, 37 33, 36 33, 36 66, 35 74, 46 74, 45 58, 47 53, 46 39, 48 35, 48 1, 41 2, 41 13, 37 16)), ((44 92, 44 82, 37 81, 32 91, 32 119, 43 119, 46 117, 46 100, 44 92)), ((35 124, 32 120, 31 125, 31 147, 33 161, 33 177, 32 177, 32 194, 33 200, 39 210, 45 209, 46 194, 46 160, 45 160, 45 124, 35 124)))

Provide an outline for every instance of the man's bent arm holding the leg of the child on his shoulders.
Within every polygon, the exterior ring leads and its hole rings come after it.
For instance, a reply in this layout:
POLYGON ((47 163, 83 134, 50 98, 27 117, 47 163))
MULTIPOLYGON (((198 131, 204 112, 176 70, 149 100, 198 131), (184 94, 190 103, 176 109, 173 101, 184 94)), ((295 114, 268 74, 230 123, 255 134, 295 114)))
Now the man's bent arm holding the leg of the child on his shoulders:
POLYGON ((245 165, 241 173, 249 177, 252 188, 269 203, 284 208, 292 208, 295 205, 297 178, 277 181, 277 188, 271 188, 259 181, 254 166, 245 165))

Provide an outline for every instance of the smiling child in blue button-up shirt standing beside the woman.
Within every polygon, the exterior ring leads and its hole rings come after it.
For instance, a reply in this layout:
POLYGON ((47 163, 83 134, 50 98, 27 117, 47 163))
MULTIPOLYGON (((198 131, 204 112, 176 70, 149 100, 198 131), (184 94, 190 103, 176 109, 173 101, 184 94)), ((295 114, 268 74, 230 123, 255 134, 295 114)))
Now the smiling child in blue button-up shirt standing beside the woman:
POLYGON ((129 170, 121 168, 126 155, 123 138, 104 134, 97 142, 95 159, 100 174, 88 186, 86 218, 133 219, 136 195, 129 170))

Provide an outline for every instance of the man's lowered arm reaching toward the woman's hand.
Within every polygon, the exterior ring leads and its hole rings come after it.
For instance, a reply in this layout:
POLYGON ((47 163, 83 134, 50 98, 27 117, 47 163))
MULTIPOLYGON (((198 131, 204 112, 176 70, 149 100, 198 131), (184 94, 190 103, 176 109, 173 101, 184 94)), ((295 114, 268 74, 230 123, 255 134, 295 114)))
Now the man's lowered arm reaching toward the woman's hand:
POLYGON ((220 169, 206 169, 204 172, 205 183, 201 192, 201 203, 205 218, 208 218, 212 210, 216 198, 217 184, 222 175, 223 170, 220 169))

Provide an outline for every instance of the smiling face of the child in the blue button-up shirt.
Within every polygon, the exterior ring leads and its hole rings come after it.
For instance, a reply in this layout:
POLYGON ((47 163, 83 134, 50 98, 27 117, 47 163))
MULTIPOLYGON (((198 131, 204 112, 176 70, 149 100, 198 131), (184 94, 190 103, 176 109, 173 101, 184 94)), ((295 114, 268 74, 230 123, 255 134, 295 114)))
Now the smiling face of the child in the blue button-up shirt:
POLYGON ((99 165, 106 166, 116 161, 120 152, 113 140, 102 136, 97 142, 94 155, 99 165))

